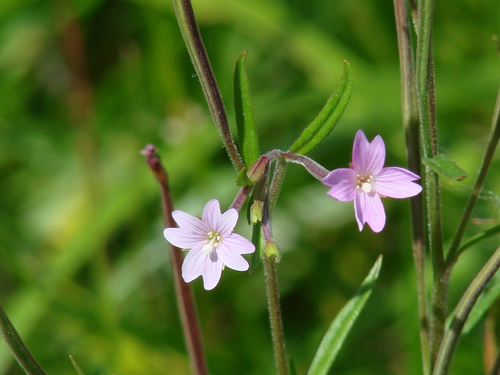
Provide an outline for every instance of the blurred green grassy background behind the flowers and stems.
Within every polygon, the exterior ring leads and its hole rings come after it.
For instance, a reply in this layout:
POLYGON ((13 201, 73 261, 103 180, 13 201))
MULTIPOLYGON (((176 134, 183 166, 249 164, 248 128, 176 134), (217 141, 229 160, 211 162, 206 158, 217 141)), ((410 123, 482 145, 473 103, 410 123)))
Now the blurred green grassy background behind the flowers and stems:
MULTIPOLYGON (((194 0, 234 125, 232 77, 248 51, 263 151, 286 149, 314 118, 350 61, 354 92, 310 156, 351 160, 354 134, 380 134, 387 164, 405 165, 392 2, 194 0)), ((491 36, 496 0, 436 2, 439 143, 470 178, 444 182, 445 242, 477 175, 500 81, 491 36)), ((49 374, 187 374, 162 230, 159 190, 140 150, 158 146, 176 208, 227 207, 236 172, 222 148, 167 0, 0 2, 0 301, 49 374)), ((476 217, 500 217, 495 158, 476 217)), ((387 226, 359 233, 352 203, 301 167, 288 168, 273 214, 285 339, 304 373, 337 311, 379 254, 379 284, 331 373, 421 373, 407 200, 385 200, 387 226)), ((478 231, 472 227, 469 234, 478 231)), ((238 231, 250 230, 242 218, 238 231)), ((498 245, 466 253, 452 275, 454 306, 498 245)), ((275 373, 262 268, 224 272, 194 288, 211 373, 275 373)), ((481 322, 462 338, 451 374, 482 371, 481 322)), ((21 374, 0 343, 0 374, 21 374)))

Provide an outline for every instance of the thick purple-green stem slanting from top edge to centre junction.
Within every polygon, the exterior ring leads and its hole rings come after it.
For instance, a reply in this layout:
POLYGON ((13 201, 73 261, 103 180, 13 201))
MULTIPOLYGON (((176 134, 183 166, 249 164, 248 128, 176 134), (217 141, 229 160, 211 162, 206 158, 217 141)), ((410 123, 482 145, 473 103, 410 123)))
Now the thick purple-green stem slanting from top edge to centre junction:
POLYGON ((205 45, 201 39, 191 0, 173 0, 173 5, 182 37, 191 56, 191 61, 193 61, 193 66, 200 80, 215 126, 221 134, 231 162, 236 170, 240 171, 244 164, 229 131, 226 108, 210 66, 205 45))

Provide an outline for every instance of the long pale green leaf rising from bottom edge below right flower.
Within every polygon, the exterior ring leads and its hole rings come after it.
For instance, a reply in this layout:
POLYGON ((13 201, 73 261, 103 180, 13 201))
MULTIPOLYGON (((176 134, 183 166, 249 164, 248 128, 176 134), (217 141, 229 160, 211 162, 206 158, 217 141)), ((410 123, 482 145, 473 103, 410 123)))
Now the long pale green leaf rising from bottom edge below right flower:
POLYGON ((325 375, 328 373, 343 341, 346 339, 379 278, 381 266, 382 255, 379 256, 354 297, 340 310, 340 313, 331 323, 330 328, 328 328, 321 340, 307 375, 325 375))

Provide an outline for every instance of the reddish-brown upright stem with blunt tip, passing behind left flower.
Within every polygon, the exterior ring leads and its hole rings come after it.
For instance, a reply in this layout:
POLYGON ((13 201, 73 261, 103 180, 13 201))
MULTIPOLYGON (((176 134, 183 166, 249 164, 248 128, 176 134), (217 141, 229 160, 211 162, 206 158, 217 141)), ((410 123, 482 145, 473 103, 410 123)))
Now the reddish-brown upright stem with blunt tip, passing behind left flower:
MULTIPOLYGON (((147 145, 142 153, 146 156, 146 161, 151 172, 160 183, 165 224, 167 227, 176 227, 177 225, 172 217, 173 204, 172 196, 170 195, 168 176, 157 154, 157 150, 153 145, 147 145)), ((173 245, 170 245, 170 250, 175 293, 184 332, 184 339, 187 345, 187 352, 191 360, 191 367, 195 375, 208 375, 200 324, 196 313, 195 299, 189 284, 182 279, 182 250, 173 245)))

